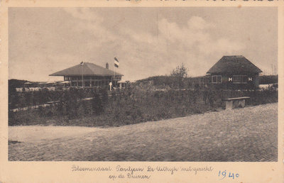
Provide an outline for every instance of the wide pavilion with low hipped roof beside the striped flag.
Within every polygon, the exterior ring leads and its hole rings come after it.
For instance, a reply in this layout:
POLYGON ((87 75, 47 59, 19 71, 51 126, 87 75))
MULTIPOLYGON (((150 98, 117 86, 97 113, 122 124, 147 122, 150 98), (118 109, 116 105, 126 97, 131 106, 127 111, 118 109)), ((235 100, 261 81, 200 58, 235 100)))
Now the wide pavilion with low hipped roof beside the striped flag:
POLYGON ((117 87, 123 74, 109 70, 108 63, 104 68, 93 63, 84 62, 50 74, 50 76, 64 77, 64 81, 70 82, 71 87, 108 87, 110 82, 113 87, 117 87))

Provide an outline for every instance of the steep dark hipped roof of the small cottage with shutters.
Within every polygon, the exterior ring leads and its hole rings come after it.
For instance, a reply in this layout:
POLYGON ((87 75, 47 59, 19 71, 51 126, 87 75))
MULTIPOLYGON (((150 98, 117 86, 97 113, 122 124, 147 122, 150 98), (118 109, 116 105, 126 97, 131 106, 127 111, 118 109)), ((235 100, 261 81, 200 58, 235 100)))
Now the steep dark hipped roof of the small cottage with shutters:
POLYGON ((262 72, 256 65, 253 65, 246 57, 241 55, 223 56, 209 71, 211 73, 233 73, 247 74, 262 72))

